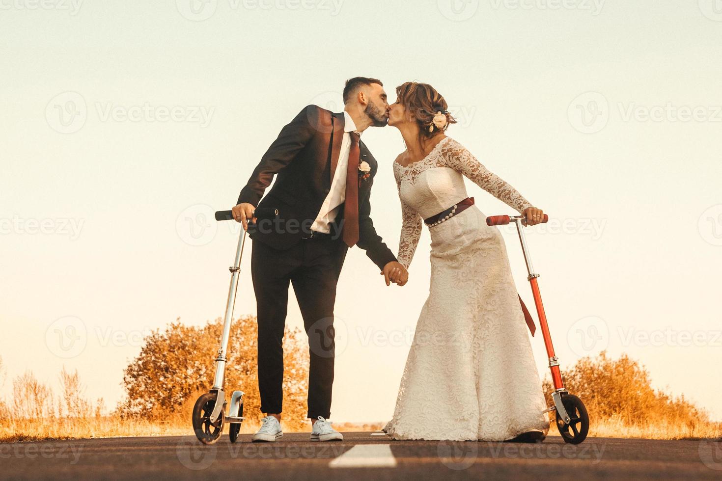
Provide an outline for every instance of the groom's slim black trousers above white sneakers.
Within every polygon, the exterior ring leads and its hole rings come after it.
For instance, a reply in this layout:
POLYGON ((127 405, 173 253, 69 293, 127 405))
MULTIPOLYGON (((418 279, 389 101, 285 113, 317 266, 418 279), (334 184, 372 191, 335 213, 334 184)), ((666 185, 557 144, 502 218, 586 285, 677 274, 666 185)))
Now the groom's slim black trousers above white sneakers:
POLYGON ((293 285, 308 335, 308 418, 331 417, 336 283, 348 247, 341 239, 301 239, 287 250, 253 241, 251 278, 258 304, 261 412, 283 410, 283 334, 293 285))

